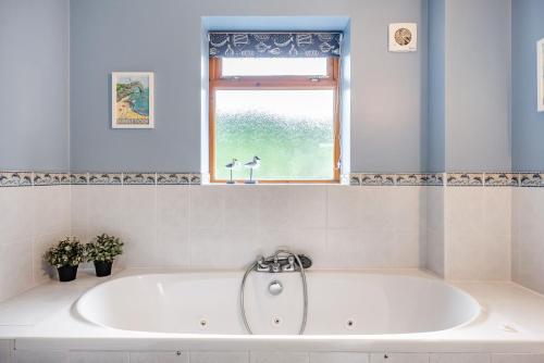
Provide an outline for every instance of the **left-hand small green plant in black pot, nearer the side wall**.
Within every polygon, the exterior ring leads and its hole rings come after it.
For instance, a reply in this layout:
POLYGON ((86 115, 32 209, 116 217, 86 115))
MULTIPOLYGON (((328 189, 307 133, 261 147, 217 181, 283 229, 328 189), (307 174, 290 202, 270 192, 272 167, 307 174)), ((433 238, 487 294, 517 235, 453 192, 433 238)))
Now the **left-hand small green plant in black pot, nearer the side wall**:
POLYGON ((77 275, 79 262, 85 261, 85 247, 75 237, 66 237, 47 250, 44 259, 59 272, 59 280, 71 281, 77 275))

